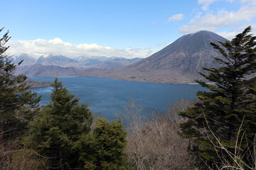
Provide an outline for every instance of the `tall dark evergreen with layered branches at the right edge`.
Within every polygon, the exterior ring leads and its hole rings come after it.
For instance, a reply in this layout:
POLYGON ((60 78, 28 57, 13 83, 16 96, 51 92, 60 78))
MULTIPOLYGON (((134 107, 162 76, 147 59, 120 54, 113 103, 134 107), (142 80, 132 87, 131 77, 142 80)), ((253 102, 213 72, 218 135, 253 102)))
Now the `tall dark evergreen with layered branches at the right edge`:
MULTIPOLYGON (((196 158, 198 166, 206 163, 215 169, 223 164, 223 160, 235 164, 226 152, 213 147, 219 145, 216 138, 231 153, 235 153, 236 140, 242 140, 238 150, 242 153, 240 155, 245 155, 238 159, 243 162, 253 159, 246 151, 253 145, 256 132, 256 37, 250 34, 250 30, 250 27, 246 28, 230 42, 220 42, 221 46, 211 43, 223 55, 222 58, 214 58, 220 67, 203 67, 208 74, 200 74, 211 84, 197 82, 209 91, 198 91, 201 102, 180 112, 187 118, 186 123, 180 125, 182 135, 191 140, 188 150, 196 158), (238 137, 240 125, 240 134, 245 132, 243 137, 238 137)), ((244 168, 247 169, 246 166, 244 168)))

